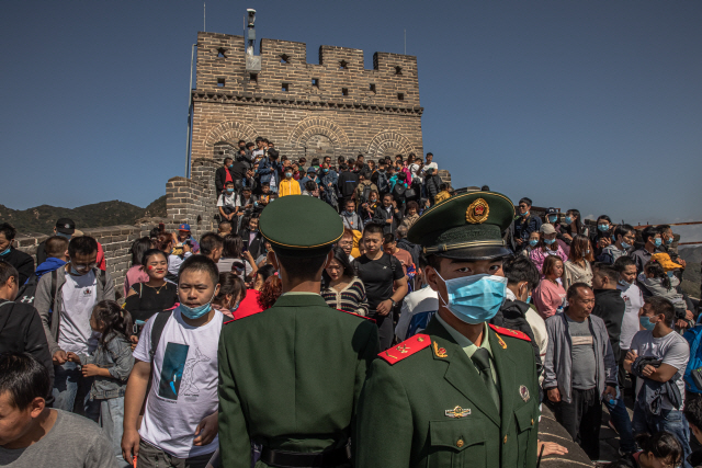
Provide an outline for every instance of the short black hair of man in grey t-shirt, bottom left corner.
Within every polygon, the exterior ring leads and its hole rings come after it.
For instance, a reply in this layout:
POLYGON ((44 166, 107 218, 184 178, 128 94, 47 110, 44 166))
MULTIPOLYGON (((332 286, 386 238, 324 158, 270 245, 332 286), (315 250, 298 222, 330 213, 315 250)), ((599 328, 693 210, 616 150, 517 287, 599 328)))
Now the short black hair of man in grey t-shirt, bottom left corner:
POLYGON ((0 354, 0 395, 9 393, 11 404, 25 410, 35 398, 52 391, 48 369, 29 353, 0 354))

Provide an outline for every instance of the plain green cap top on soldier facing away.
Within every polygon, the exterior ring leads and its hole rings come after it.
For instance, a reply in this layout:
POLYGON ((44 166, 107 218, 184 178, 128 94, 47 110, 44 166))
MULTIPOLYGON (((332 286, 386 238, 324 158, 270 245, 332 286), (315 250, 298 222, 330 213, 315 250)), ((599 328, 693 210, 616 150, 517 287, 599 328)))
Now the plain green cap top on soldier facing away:
POLYGON ((331 250, 343 235, 339 214, 327 203, 307 195, 276 198, 261 213, 261 235, 281 256, 317 256, 331 250))

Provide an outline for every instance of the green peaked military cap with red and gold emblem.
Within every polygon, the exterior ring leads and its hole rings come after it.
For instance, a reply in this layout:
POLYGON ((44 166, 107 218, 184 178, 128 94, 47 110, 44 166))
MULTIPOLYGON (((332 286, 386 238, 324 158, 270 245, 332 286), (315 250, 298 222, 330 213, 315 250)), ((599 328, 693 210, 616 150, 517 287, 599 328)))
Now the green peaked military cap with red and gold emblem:
POLYGON ((469 191, 429 208, 412 225, 407 239, 426 254, 485 260, 511 254, 502 231, 514 218, 514 205, 495 192, 469 191))

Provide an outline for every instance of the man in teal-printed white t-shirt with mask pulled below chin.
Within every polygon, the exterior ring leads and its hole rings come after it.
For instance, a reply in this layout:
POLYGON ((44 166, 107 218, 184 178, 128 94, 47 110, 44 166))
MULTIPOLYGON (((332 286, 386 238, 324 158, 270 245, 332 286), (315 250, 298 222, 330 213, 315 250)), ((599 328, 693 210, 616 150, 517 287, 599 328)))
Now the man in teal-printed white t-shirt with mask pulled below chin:
POLYGON ((122 450, 128 463, 137 457, 137 468, 204 468, 218 444, 217 345, 225 317, 211 304, 219 293, 217 265, 204 255, 188 258, 178 286, 180 306, 149 320, 134 351, 122 450))

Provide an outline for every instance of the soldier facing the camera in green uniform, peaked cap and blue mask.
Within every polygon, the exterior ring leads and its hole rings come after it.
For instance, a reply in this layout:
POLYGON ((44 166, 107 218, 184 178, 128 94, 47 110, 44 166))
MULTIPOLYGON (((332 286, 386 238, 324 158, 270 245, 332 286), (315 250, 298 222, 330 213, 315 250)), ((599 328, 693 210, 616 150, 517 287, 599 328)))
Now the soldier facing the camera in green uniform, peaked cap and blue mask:
POLYGON ((514 208, 471 192, 430 208, 422 246, 439 311, 422 334, 380 354, 361 393, 356 467, 535 467, 539 380, 529 338, 488 326, 505 298, 514 208))

